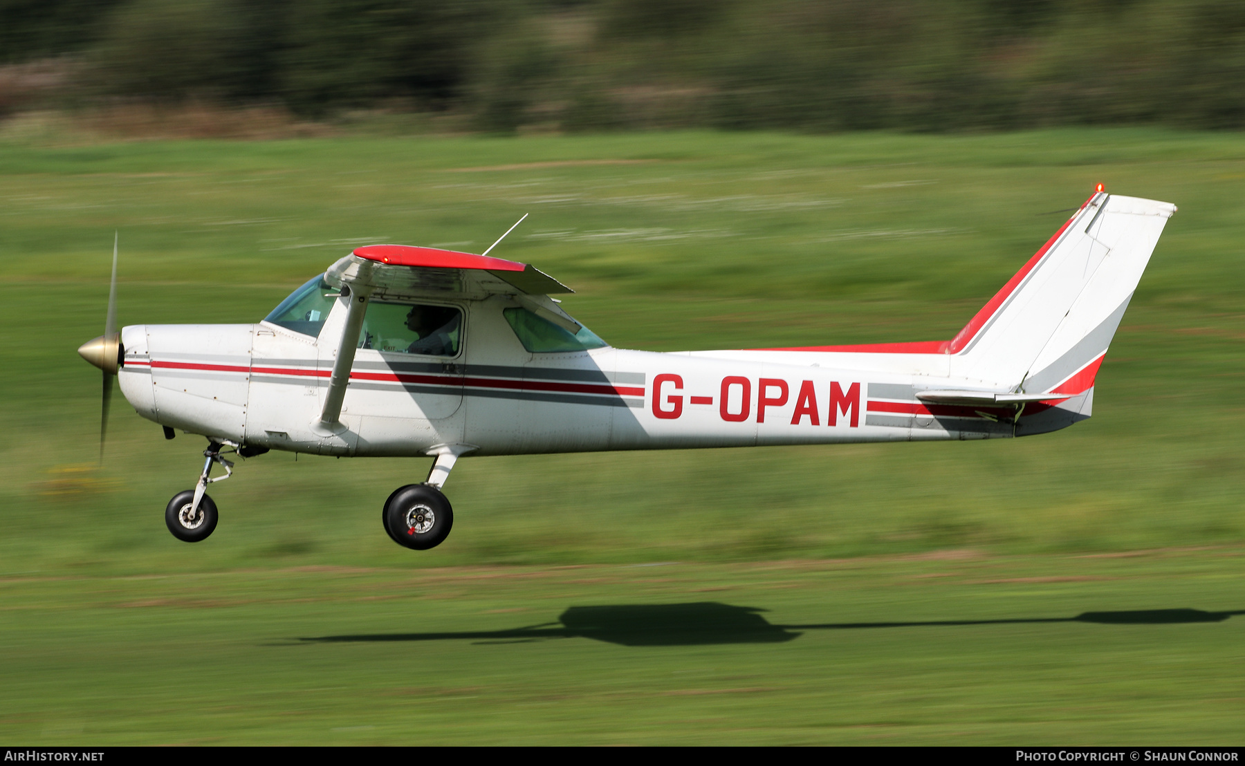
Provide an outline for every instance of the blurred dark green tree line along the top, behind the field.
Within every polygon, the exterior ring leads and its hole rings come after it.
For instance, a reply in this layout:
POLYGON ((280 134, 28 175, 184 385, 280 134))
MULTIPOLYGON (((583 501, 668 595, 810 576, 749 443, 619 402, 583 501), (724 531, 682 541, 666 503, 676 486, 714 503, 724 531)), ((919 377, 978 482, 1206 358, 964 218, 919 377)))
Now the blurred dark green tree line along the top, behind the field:
POLYGON ((0 72, 39 61, 54 106, 498 132, 1245 124, 1239 0, 0 0, 0 72))

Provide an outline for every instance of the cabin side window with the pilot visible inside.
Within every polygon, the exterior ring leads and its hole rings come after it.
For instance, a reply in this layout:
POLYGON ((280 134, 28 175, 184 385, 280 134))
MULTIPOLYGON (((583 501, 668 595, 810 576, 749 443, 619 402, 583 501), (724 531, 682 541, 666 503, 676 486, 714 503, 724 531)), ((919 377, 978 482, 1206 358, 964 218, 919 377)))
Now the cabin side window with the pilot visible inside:
POLYGON ((428 357, 458 356, 463 315, 452 306, 372 301, 359 333, 359 348, 428 357))

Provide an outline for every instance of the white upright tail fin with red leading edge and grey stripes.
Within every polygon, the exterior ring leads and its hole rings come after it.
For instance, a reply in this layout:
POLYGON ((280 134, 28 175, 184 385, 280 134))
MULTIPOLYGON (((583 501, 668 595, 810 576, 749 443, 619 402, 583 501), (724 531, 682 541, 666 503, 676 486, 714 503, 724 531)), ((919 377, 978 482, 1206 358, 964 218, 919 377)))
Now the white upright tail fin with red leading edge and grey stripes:
POLYGON ((951 341, 951 374, 1018 393, 1079 394, 1177 208, 1098 192, 951 341))

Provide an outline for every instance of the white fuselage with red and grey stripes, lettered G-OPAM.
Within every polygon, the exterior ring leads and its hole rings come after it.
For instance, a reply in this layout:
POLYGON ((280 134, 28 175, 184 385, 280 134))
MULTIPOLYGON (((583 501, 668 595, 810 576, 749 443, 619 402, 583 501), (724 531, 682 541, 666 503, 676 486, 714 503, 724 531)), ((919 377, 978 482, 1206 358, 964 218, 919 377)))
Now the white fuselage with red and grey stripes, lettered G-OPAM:
POLYGON ((126 399, 144 418, 278 450, 476 455, 1011 438, 1091 414, 1092 387, 1015 408, 921 403, 928 389, 982 388, 947 353, 613 347, 533 353, 503 318, 505 296, 462 311, 452 356, 359 348, 336 433, 316 429, 345 321, 317 336, 270 322, 123 328, 126 399))

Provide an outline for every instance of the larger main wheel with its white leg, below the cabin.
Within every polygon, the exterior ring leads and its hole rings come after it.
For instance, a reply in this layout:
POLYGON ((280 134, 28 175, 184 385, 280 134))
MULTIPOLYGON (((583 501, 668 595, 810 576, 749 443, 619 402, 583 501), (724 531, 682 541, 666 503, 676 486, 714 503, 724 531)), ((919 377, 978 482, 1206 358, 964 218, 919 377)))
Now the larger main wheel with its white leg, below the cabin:
POLYGON ((442 445, 430 450, 437 456, 423 484, 408 484, 393 490, 385 501, 381 521, 393 542, 426 551, 441 545, 454 525, 454 511, 441 487, 458 456, 476 449, 466 445, 442 445))

